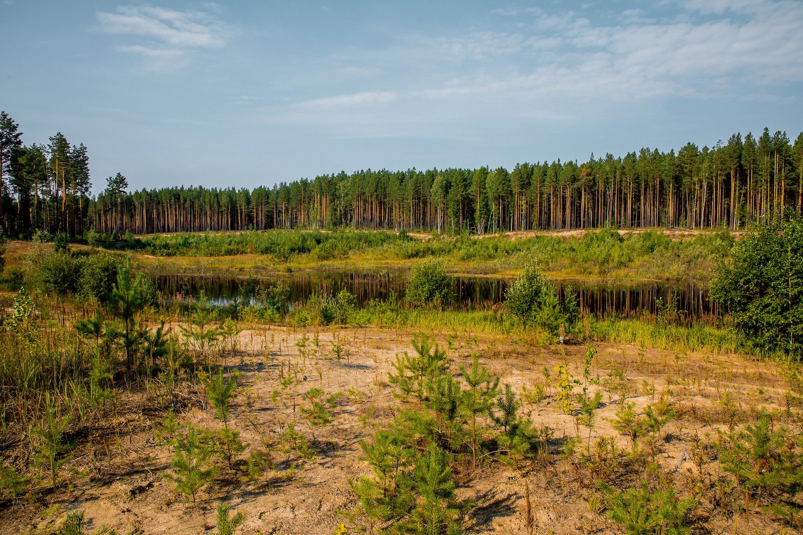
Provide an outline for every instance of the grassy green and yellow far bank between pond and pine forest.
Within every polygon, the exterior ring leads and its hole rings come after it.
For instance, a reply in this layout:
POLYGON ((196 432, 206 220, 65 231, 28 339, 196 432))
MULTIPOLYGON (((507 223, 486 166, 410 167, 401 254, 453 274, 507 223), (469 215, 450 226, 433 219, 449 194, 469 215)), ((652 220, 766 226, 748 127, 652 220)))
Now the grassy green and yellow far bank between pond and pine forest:
POLYGON ((442 258, 451 273, 513 276, 532 259, 546 275, 614 280, 706 280, 728 255, 727 231, 671 239, 662 231, 619 235, 603 229, 582 237, 530 235, 513 239, 468 235, 417 239, 386 231, 247 231, 148 235, 116 242, 152 272, 287 272, 298 269, 409 267, 442 258))

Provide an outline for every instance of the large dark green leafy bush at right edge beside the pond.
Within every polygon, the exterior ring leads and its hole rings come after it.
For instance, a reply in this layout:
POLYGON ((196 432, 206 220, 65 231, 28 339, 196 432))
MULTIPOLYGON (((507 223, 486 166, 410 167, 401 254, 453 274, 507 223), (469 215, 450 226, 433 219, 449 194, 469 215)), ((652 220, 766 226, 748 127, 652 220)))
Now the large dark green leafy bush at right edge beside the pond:
POLYGON ((803 219, 762 225, 719 263, 711 288, 760 349, 803 351, 803 219))

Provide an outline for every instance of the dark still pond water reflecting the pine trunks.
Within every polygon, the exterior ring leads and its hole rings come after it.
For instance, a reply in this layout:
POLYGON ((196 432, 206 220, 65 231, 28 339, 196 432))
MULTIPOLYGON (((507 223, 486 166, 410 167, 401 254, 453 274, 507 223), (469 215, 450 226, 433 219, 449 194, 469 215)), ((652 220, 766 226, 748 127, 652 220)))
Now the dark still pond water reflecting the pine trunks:
MULTIPOLYGON (((296 272, 272 279, 244 279, 210 276, 156 276, 157 287, 165 296, 198 297, 204 292, 213 304, 226 305, 238 298, 249 299, 254 288, 266 288, 282 281, 293 303, 303 303, 314 294, 336 294, 342 289, 357 296, 361 305, 370 300, 404 297, 407 272, 404 270, 350 271, 328 270, 296 272)), ((490 308, 501 303, 510 279, 489 277, 454 277, 454 294, 460 308, 490 308)), ((707 292, 696 284, 605 284, 594 281, 553 281, 562 295, 572 286, 580 297, 581 310, 595 317, 635 317, 654 314, 658 298, 662 303, 674 301, 684 311, 687 321, 718 315, 707 292)))

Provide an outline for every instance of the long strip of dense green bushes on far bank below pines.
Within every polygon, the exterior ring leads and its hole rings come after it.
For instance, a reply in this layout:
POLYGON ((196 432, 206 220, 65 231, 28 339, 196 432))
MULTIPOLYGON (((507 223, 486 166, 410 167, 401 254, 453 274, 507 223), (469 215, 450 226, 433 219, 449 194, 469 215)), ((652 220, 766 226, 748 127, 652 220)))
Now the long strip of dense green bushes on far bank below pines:
MULTIPOLYGON (((99 236, 88 234, 85 239, 102 243, 99 236)), ((586 231, 582 237, 532 235, 517 239, 507 235, 483 239, 460 235, 422 240, 383 231, 246 231, 149 235, 142 239, 128 236, 103 243, 160 256, 259 254, 281 261, 307 259, 313 263, 354 255, 373 260, 448 257, 450 261, 471 263, 482 272, 524 267, 535 254, 548 272, 686 280, 703 278, 711 272, 715 260, 728 253, 733 239, 727 231, 671 239, 662 231, 620 235, 613 228, 604 228, 586 231)))

